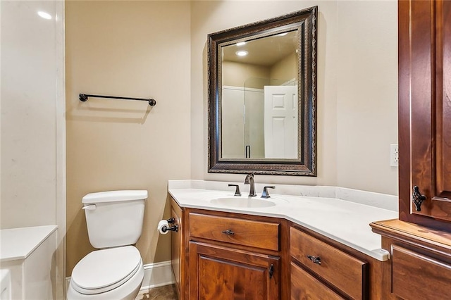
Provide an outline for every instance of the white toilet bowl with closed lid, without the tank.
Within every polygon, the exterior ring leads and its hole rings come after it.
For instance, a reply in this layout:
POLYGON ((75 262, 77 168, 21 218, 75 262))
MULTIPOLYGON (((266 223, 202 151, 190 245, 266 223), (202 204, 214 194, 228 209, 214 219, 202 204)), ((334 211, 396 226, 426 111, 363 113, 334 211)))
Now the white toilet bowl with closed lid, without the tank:
POLYGON ((135 299, 144 278, 140 252, 134 246, 93 251, 75 265, 68 300, 135 299))

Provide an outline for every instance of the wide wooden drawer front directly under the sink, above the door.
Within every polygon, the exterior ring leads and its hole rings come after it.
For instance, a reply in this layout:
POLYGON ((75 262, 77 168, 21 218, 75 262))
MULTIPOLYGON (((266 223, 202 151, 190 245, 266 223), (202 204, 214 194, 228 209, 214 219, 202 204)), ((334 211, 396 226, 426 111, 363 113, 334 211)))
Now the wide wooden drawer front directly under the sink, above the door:
POLYGON ((279 224, 190 213, 190 236, 279 250, 279 224))

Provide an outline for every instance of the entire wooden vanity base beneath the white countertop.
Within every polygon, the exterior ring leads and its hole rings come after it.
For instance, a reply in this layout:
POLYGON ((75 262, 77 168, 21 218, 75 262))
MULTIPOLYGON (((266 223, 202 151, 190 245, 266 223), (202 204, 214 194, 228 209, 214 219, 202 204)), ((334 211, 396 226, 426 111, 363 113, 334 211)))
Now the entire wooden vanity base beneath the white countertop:
POLYGON ((179 299, 390 299, 390 261, 283 218, 171 203, 179 299))

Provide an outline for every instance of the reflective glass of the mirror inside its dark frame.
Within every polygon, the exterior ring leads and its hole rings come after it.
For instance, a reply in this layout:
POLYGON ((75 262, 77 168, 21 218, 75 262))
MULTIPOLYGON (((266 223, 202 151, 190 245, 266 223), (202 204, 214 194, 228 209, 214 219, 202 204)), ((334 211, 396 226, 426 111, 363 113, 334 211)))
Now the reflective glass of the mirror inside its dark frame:
POLYGON ((221 158, 297 158, 298 35, 221 47, 221 158))

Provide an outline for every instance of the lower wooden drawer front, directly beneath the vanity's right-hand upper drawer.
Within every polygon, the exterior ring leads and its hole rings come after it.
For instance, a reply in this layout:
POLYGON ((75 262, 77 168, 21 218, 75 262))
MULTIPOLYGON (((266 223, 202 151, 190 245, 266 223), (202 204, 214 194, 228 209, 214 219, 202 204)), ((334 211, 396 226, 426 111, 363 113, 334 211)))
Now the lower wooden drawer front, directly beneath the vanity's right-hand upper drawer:
POLYGON ((344 299, 323 285, 314 276, 291 262, 291 299, 344 299))

